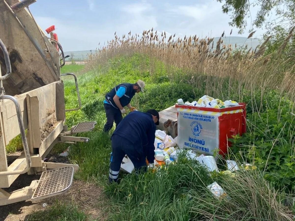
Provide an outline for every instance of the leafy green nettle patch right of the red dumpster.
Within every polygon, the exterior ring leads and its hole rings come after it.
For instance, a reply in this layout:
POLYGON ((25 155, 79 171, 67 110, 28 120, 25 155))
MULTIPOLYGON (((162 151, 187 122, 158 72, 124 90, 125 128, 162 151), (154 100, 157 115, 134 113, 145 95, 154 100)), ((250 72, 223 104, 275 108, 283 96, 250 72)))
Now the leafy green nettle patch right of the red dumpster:
POLYGON ((229 158, 255 164, 276 187, 295 187, 295 116, 287 103, 247 116, 248 131, 229 139, 229 158))

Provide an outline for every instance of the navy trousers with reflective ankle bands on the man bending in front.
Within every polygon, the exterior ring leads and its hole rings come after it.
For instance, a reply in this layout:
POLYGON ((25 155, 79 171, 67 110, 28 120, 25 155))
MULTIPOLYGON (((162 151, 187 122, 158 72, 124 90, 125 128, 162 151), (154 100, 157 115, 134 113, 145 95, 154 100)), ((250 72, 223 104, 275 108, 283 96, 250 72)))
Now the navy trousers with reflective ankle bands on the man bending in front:
MULTIPOLYGON (((141 144, 140 144, 141 145, 141 144)), ((112 136, 111 164, 109 169, 109 182, 117 182, 119 170, 125 154, 132 161, 135 171, 147 171, 146 156, 142 153, 142 146, 132 144, 127 139, 114 134, 112 136)))

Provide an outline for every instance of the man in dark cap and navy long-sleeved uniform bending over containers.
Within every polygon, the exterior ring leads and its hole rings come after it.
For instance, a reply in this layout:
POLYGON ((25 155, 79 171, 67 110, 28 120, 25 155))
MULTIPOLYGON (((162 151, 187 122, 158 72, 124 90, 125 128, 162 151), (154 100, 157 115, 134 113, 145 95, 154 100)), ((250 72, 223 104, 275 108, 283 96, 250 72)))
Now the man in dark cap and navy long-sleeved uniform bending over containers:
POLYGON ((112 153, 109 182, 117 182, 119 170, 125 154, 132 161, 135 171, 153 168, 155 160, 155 132, 159 125, 159 113, 151 109, 147 112, 133 111, 119 123, 112 134, 112 153))

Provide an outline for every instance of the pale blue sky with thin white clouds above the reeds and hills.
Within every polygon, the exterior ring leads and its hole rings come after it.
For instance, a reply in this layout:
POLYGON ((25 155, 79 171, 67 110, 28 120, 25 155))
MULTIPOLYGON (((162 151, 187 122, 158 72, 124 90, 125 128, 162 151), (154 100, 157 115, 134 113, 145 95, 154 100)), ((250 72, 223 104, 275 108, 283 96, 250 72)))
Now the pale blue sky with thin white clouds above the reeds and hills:
MULTIPOLYGON (((219 37, 223 31, 229 36, 231 29, 232 36, 248 37, 250 25, 238 34, 237 28, 229 26, 230 15, 223 14, 221 7, 216 0, 38 0, 30 5, 30 11, 44 32, 55 25, 64 51, 81 51, 107 44, 115 32, 118 36, 129 31, 141 34, 151 28, 181 38, 195 34, 219 37)), ((255 8, 251 11, 253 18, 256 12, 255 8)), ((254 30, 253 37, 257 38, 265 32, 254 30)))

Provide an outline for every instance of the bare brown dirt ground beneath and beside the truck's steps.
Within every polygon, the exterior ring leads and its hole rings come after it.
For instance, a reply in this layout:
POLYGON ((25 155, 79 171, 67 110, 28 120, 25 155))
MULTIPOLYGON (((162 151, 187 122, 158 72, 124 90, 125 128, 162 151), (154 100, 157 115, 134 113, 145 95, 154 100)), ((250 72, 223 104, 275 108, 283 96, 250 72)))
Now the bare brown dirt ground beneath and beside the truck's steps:
MULTIPOLYGON (((18 155, 19 153, 17 153, 18 155)), ((14 154, 15 155, 15 154, 14 154)), ((15 157, 9 156, 9 161, 15 157)), ((67 157, 48 154, 49 162, 69 163, 67 157)), ((7 192, 29 186, 32 180, 39 179, 40 175, 20 175, 9 188, 7 192)), ((22 201, 6 206, 0 206, 0 221, 23 221, 27 220, 28 215, 34 211, 45 210, 50 207, 57 199, 65 203, 74 203, 86 214, 91 215, 93 219, 105 220, 107 217, 106 199, 102 192, 102 187, 94 183, 86 183, 81 180, 74 180, 71 188, 65 193, 56 197, 50 197, 40 202, 22 201), (45 204, 47 205, 45 205, 45 204), (43 206, 44 205, 44 206, 43 206)))

